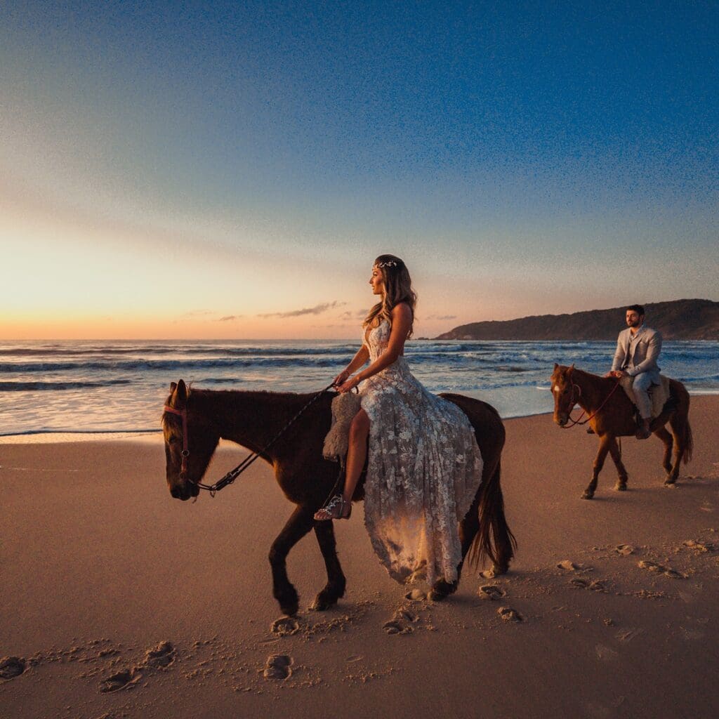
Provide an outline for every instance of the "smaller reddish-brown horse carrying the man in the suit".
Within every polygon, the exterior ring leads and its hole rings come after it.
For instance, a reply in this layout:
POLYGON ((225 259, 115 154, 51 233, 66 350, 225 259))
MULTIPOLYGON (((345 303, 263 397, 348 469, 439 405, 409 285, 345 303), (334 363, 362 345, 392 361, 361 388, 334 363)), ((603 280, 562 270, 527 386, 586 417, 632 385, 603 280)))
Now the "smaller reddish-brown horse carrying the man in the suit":
MULTIPOLYGON (((554 365, 551 375, 551 391, 554 395, 554 421, 567 426, 575 403, 586 413, 590 427, 599 437, 599 452, 594 460, 592 481, 582 494, 582 499, 592 499, 597 489, 597 479, 609 453, 617 467, 618 480, 615 490, 627 488, 627 470, 622 463, 617 437, 633 436, 637 424, 634 419, 634 405, 626 392, 617 386, 613 377, 599 377, 571 367, 554 365)), ((586 422, 587 420, 585 420, 586 422)), ((582 422, 585 423, 585 422, 582 422)), ((574 426, 574 425, 569 425, 574 426)), ((651 421, 650 429, 664 443, 662 466, 667 472, 665 485, 673 485, 679 477, 679 464, 692 458, 692 428, 689 424, 689 393, 677 380, 669 380, 669 400, 661 414, 651 421), (664 427, 669 422, 672 434, 664 427), (674 464, 672 465, 672 445, 674 464)))

